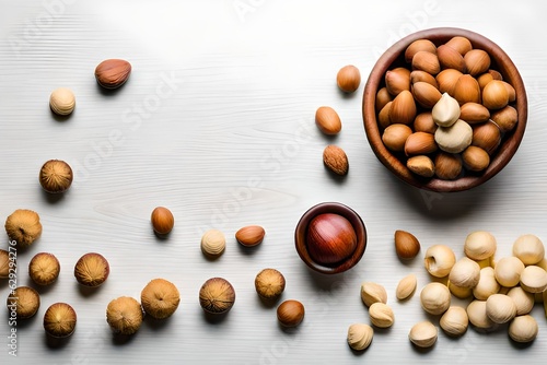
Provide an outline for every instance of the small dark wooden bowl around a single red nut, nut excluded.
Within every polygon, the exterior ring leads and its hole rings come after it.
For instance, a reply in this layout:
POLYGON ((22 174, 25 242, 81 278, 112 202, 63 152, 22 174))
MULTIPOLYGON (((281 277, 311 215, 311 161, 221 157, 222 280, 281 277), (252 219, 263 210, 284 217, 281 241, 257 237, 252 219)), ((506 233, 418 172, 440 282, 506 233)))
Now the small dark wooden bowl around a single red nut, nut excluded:
POLYGON ((341 203, 326 202, 310 208, 302 215, 294 232, 294 242, 296 245, 296 251, 302 261, 305 262, 305 264, 317 272, 325 274, 335 274, 351 269, 361 260, 364 254, 364 249, 366 248, 366 229, 359 214, 356 213, 356 211, 353 211, 351 208, 341 203), (306 237, 310 222, 315 216, 324 213, 334 213, 346 217, 351 223, 357 235, 357 248, 353 254, 348 259, 334 267, 325 266, 314 261, 310 257, 310 254, 307 251, 306 237))

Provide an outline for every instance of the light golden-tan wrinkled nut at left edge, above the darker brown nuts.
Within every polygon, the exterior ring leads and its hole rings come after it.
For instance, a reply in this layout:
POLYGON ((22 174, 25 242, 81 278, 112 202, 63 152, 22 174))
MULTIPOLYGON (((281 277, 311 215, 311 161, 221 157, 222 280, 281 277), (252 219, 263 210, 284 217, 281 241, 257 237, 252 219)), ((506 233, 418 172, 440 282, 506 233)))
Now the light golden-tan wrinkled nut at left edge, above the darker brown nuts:
POLYGON ((42 234, 38 213, 18 209, 5 220, 5 232, 21 248, 31 246, 42 234))

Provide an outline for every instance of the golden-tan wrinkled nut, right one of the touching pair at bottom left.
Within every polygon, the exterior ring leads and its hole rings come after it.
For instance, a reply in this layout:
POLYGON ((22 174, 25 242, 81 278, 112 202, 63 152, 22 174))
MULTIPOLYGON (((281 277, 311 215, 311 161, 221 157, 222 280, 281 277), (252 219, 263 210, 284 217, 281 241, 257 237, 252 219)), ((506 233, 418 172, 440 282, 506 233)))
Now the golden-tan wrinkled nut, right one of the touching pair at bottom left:
POLYGON ((178 308, 181 295, 176 286, 165 279, 154 279, 140 294, 142 308, 155 319, 171 317, 178 308))

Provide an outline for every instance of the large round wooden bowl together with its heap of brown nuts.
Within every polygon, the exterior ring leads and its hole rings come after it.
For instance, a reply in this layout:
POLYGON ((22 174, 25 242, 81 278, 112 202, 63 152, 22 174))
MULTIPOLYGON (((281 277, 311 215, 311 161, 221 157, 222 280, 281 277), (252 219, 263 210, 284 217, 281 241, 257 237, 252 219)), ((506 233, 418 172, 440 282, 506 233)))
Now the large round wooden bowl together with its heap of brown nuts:
POLYGON ((524 136, 524 83, 490 39, 431 28, 400 39, 371 71, 363 95, 366 138, 404 181, 449 192, 498 174, 524 136))

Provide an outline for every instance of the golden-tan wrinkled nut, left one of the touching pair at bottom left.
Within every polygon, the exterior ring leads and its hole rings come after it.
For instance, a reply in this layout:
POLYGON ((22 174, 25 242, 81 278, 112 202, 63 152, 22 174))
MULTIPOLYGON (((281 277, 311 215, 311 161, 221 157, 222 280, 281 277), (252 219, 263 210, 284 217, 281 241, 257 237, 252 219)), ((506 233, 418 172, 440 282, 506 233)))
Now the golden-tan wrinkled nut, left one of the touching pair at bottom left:
POLYGON ((106 307, 106 321, 114 333, 136 333, 143 317, 140 303, 128 296, 120 296, 108 303, 106 307))

